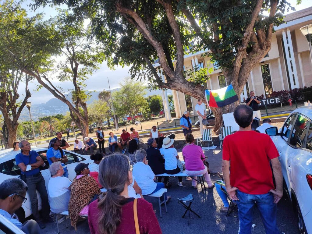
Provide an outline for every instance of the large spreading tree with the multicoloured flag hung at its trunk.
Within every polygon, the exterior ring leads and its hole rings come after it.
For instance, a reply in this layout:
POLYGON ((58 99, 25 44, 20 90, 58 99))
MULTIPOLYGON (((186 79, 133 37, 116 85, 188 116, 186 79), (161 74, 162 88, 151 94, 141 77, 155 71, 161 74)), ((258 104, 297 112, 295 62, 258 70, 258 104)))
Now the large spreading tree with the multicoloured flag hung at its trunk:
MULTIPOLYGON (((154 88, 178 90, 203 100, 202 79, 184 77, 184 54, 210 50, 212 61, 219 63, 227 83, 240 95, 251 70, 271 49, 273 26, 283 22, 282 14, 290 8, 285 0, 35 2, 34 8, 65 3, 78 17, 91 17, 93 36, 105 46, 109 65, 131 65, 133 78, 145 78, 154 88), (166 82, 153 66, 156 60, 166 82)), ((222 125, 222 114, 233 111, 237 104, 212 108, 214 131, 222 125)))

